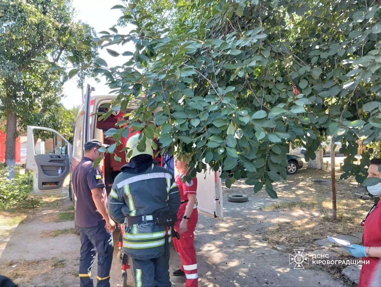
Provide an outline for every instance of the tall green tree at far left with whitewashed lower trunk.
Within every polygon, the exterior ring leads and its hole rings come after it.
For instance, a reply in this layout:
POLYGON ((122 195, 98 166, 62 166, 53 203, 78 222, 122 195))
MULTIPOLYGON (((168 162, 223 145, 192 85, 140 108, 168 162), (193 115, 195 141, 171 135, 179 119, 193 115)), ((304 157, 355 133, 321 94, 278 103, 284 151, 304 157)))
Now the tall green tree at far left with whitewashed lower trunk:
POLYGON ((78 73, 82 86, 84 78, 93 75, 93 67, 86 65, 98 55, 91 41, 95 33, 87 24, 74 21, 73 12, 69 0, 0 3, 0 113, 6 118, 5 157, 10 167, 15 165, 17 127, 46 121, 54 126, 45 113, 59 103, 62 84, 78 73), (81 50, 77 42, 88 46, 81 50), (61 66, 68 63, 82 69, 66 74, 61 66))

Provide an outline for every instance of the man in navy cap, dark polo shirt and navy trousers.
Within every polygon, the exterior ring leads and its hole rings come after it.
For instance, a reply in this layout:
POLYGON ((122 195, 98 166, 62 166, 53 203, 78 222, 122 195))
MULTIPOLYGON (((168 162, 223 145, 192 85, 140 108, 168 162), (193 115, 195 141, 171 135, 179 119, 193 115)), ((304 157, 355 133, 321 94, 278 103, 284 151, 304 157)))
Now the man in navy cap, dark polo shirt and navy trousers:
POLYGON ((115 222, 107 211, 107 194, 101 168, 94 168, 94 160, 107 148, 96 139, 85 143, 85 156, 72 172, 75 223, 80 229, 79 277, 81 286, 93 286, 91 267, 98 253, 97 286, 110 286, 110 268, 114 244, 112 231, 115 222))

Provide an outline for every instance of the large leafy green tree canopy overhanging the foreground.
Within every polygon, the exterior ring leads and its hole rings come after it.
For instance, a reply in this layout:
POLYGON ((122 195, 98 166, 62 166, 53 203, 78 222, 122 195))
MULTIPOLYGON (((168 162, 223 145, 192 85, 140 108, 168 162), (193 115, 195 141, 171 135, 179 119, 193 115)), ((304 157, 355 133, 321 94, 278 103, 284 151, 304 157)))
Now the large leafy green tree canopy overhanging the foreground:
POLYGON ((131 55, 126 63, 96 63, 118 95, 114 106, 125 109, 144 95, 127 129, 110 135, 142 130, 142 148, 160 127, 164 151, 177 146, 177 154, 191 157, 189 176, 206 164, 222 167, 228 188, 247 176, 254 192, 264 187, 273 198, 272 183, 287 179, 290 141, 303 143, 308 160, 333 136, 348 143, 342 178, 364 181, 371 155, 364 152, 354 164, 357 139, 381 137, 376 2, 179 0, 179 16, 164 33, 148 19, 140 24, 139 3, 114 7, 135 29, 121 35, 113 27, 97 39, 115 57, 112 45, 135 44, 134 52, 123 53, 131 55))

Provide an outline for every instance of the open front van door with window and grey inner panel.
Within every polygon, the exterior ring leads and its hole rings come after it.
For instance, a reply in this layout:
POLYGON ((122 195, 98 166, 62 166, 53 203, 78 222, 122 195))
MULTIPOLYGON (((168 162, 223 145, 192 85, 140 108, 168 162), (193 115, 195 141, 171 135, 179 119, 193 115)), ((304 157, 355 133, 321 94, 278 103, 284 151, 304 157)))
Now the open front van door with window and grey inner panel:
POLYGON ((27 127, 26 168, 33 172, 35 193, 61 192, 70 171, 70 143, 57 131, 27 127))

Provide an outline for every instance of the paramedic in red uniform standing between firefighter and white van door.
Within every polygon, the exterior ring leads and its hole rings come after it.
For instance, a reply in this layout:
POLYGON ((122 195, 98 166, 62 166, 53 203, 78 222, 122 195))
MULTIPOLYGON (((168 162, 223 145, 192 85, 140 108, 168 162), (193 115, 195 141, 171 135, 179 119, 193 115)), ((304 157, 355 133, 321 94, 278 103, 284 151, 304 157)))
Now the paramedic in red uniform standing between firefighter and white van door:
POLYGON ((194 287, 198 283, 196 250, 194 249, 194 229, 199 219, 196 206, 197 179, 192 178, 184 182, 187 173, 187 163, 174 157, 174 166, 179 174, 176 176, 176 184, 180 191, 181 205, 177 213, 177 222, 174 230, 179 232, 180 240, 173 237, 173 244, 181 258, 182 266, 174 271, 174 276, 186 277, 185 286, 194 287))

